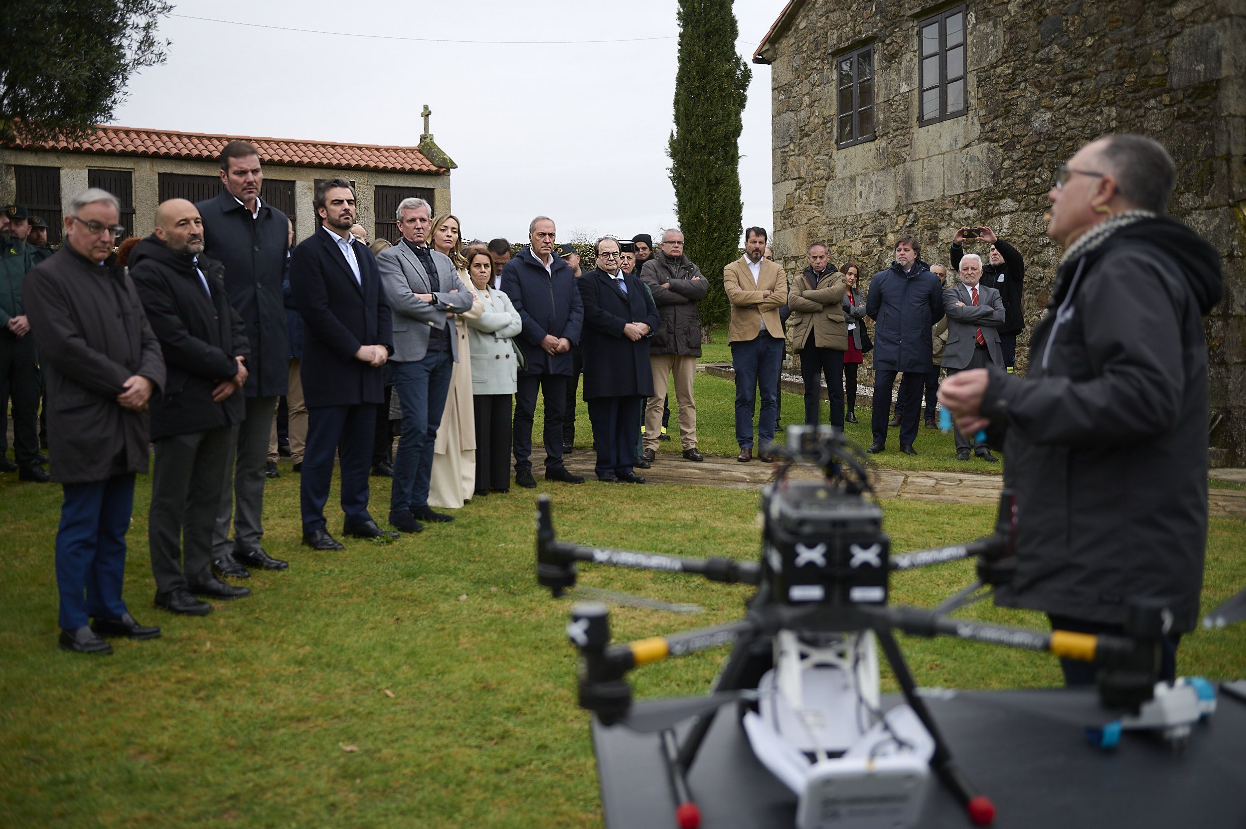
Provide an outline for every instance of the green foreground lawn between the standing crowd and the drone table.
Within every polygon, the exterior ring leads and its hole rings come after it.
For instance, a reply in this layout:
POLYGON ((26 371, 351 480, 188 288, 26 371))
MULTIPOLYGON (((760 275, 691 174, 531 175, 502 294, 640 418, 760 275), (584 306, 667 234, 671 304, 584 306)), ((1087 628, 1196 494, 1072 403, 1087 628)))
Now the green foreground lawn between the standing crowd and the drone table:
MULTIPOLYGON (((533 578, 532 491, 477 499, 451 525, 345 552, 298 546, 298 476, 265 492, 265 547, 292 562, 203 618, 151 607, 150 477, 140 476, 126 598, 164 635, 111 657, 56 649, 56 486, 0 480, 0 825, 599 827, 588 714, 576 707, 568 600, 533 578)), ((374 500, 388 495, 373 479, 374 500)), ((561 537, 683 555, 756 555, 756 492, 554 484, 561 537)), ((984 534, 987 506, 885 501, 896 550, 984 534)), ((330 530, 340 512, 330 505, 330 530)), ((1246 583, 1246 522, 1212 520, 1205 607, 1246 583)), ((968 563, 903 573, 895 601, 931 606, 968 563)), ((690 601, 699 616, 619 607, 617 641, 738 616, 748 590, 582 567, 581 583, 690 601)), ((1040 626, 976 605, 968 616, 1040 626)), ((906 638, 923 684, 1053 686, 1054 659, 906 638)), ((638 698, 704 691, 714 651, 633 674, 638 698)), ((1246 674, 1246 630, 1197 631, 1179 669, 1246 674)), ((890 688, 888 683, 888 688, 890 688)), ((1080 739, 1070 734, 1070 740, 1080 739)))

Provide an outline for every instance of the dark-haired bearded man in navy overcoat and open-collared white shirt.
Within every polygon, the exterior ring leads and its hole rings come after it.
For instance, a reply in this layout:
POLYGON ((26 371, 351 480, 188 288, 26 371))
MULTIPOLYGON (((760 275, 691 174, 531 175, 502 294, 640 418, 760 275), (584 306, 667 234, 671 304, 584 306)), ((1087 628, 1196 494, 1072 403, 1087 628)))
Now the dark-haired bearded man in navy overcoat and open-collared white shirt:
POLYGON ((341 550, 325 529, 334 451, 341 464, 344 532, 361 539, 397 537, 368 512, 376 404, 385 399, 381 367, 394 353, 390 307, 376 259, 355 241, 355 191, 344 178, 315 192, 321 224, 294 248, 290 292, 303 317, 303 398, 308 443, 300 487, 303 544, 341 550))

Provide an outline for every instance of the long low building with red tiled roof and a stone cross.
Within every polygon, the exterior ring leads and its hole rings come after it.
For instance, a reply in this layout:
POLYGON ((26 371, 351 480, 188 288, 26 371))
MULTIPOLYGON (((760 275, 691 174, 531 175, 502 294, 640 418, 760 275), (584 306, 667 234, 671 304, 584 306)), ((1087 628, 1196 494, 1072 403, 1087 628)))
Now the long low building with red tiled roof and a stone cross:
POLYGON ((455 163, 432 143, 427 126, 419 147, 100 126, 85 141, 0 146, 0 203, 26 204, 47 222, 56 246, 62 204, 87 187, 102 187, 121 199, 128 234, 143 237, 155 227, 159 202, 197 202, 221 192, 221 148, 232 138, 255 145, 264 166, 259 197, 294 221, 298 241, 318 226, 312 201, 316 182, 326 178, 355 184, 358 221, 370 241, 397 241, 394 211, 409 196, 427 201, 434 213, 450 209, 455 163))

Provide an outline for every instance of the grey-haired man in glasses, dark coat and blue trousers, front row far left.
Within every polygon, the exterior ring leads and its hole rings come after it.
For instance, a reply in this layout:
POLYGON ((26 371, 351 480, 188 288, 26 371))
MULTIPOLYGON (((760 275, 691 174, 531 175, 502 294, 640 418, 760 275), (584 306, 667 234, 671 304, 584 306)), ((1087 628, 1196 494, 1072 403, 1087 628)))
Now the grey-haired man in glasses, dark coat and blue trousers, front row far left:
POLYGON ((52 480, 65 486, 56 532, 60 646, 80 653, 112 653, 101 636, 159 636, 121 600, 135 472, 147 471, 147 403, 164 386, 164 359, 133 282, 111 264, 125 232, 120 218, 112 193, 75 196, 64 247, 25 284, 47 380, 52 480))

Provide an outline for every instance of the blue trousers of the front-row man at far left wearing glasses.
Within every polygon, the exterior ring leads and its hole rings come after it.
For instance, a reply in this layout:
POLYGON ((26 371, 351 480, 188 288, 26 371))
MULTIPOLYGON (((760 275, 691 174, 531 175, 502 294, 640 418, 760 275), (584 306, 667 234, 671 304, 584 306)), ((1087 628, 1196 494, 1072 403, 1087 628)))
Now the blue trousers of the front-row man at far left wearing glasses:
POLYGON ((86 627, 87 617, 115 620, 127 612, 121 600, 126 575, 126 530, 135 505, 135 475, 65 484, 56 531, 56 588, 62 631, 86 627))

